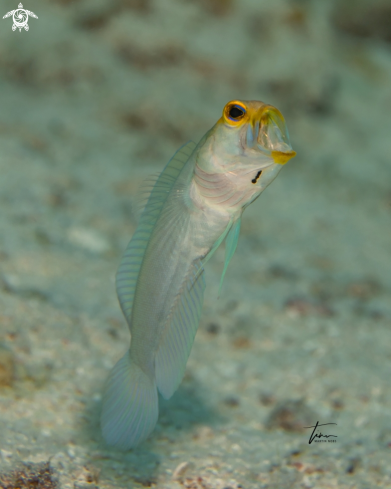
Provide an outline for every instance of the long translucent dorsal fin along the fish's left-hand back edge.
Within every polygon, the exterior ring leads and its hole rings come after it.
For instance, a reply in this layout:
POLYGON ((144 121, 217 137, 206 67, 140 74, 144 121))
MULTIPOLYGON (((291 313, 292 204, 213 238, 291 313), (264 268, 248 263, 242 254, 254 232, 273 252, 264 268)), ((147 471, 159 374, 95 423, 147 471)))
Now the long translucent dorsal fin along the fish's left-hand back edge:
POLYGON ((149 238, 170 190, 195 147, 196 144, 189 141, 167 163, 149 195, 140 222, 122 257, 117 271, 116 286, 121 309, 129 327, 131 327, 130 318, 137 279, 149 238))

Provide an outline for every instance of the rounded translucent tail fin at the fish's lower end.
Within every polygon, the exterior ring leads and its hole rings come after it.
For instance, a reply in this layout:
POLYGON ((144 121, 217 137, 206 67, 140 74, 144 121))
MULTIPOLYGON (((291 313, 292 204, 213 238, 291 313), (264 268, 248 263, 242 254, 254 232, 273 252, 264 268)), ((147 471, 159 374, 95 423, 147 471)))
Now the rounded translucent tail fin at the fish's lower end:
POLYGON ((118 361, 110 372, 103 397, 102 433, 109 445, 128 450, 143 442, 158 418, 155 379, 130 357, 118 361))

